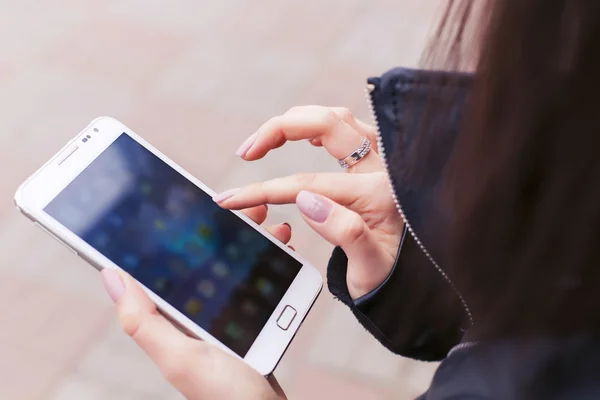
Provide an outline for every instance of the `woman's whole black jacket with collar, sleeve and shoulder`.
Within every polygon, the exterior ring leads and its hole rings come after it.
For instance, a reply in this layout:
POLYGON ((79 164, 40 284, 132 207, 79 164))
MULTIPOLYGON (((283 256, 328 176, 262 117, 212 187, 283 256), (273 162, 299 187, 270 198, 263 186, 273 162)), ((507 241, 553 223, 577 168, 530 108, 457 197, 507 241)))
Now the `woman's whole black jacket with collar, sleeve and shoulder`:
POLYGON ((597 338, 486 342, 459 346, 448 355, 472 321, 468 305, 443 272, 444 232, 451 222, 438 205, 439 190, 471 82, 469 74, 403 68, 369 79, 380 154, 407 229, 390 276, 373 292, 355 301, 350 298, 347 258, 340 248, 329 262, 329 289, 392 352, 423 361, 444 360, 423 400, 600 399, 597 338), (430 90, 432 85, 440 87, 430 90), (431 95, 437 97, 432 101, 431 95), (410 115, 417 121, 419 110, 431 104, 445 109, 444 115, 428 114, 428 128, 415 129, 410 115), (434 134, 435 140, 428 140, 434 134), (419 153, 428 154, 425 160, 414 157, 423 143, 430 147, 419 153), (418 307, 411 303, 441 296, 456 300, 449 307, 451 323, 443 326, 436 324, 437 316, 426 302, 418 307))

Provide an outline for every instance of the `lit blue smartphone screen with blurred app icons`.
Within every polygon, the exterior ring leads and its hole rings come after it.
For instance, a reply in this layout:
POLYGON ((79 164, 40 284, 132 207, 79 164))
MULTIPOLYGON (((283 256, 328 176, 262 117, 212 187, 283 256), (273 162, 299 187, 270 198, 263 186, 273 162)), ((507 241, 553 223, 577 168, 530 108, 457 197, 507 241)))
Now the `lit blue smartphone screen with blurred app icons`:
POLYGON ((45 211, 241 357, 302 267, 126 133, 45 211))

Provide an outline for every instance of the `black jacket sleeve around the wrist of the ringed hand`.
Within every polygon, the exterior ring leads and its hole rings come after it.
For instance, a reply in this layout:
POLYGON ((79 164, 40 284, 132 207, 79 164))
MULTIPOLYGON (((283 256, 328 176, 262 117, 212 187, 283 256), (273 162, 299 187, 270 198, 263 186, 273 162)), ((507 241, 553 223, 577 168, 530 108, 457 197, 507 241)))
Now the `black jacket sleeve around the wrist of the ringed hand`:
POLYGON ((392 272, 371 293, 352 300, 347 265, 346 254, 336 248, 327 269, 329 290, 392 352, 439 361, 462 339, 467 318, 458 296, 406 229, 392 272), (449 312, 439 315, 441 309, 449 312))

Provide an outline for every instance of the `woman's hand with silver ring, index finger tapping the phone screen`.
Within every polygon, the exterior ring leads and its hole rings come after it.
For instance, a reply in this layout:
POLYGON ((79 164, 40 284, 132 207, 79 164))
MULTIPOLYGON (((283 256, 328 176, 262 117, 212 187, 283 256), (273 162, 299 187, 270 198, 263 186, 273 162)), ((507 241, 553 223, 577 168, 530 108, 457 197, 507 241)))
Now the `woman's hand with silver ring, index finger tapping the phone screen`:
POLYGON ((278 178, 228 190, 214 200, 230 209, 296 203, 304 220, 348 256, 347 284, 356 299, 387 278, 404 228, 377 153, 375 128, 343 108, 295 107, 265 123, 237 152, 252 161, 288 140, 309 140, 336 159, 343 159, 365 137, 371 141, 372 150, 348 173, 278 178))

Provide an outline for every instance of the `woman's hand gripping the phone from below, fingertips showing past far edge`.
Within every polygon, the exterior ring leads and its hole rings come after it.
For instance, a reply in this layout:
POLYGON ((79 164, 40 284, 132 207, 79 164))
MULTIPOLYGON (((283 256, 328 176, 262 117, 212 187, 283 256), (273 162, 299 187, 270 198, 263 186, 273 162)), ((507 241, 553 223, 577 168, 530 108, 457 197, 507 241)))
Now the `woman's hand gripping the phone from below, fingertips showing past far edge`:
MULTIPOLYGON (((267 216, 265 206, 244 212, 257 223, 262 223, 267 216)), ((291 238, 287 224, 268 230, 284 243, 291 238)), ((243 361, 175 328, 128 274, 105 269, 102 277, 106 290, 117 304, 123 330, 187 399, 285 399, 275 378, 267 380, 243 361)))

